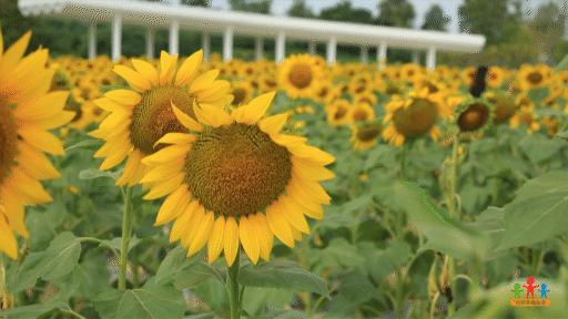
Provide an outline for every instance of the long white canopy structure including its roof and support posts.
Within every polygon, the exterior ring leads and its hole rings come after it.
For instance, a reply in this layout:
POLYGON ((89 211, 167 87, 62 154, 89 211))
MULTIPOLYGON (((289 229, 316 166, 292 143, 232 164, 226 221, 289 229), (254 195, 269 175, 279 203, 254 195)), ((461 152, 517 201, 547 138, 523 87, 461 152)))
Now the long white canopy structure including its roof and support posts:
POLYGON ((205 55, 211 52, 211 33, 223 34, 223 59, 233 56, 233 34, 256 37, 255 58, 263 56, 263 39, 276 41, 275 60, 285 56, 286 39, 308 42, 308 52, 315 53, 315 43, 327 45, 326 60, 335 63, 336 47, 341 44, 359 45, 362 61, 368 60, 368 48, 377 47, 377 60, 384 66, 387 48, 426 51, 426 66, 434 69, 436 52, 475 53, 485 45, 485 37, 476 34, 453 34, 437 31, 422 31, 390 27, 377 27, 335 22, 326 20, 274 17, 256 13, 214 10, 209 8, 180 6, 179 0, 171 3, 146 2, 136 0, 19 0, 19 8, 24 16, 50 16, 88 21, 89 58, 97 54, 97 23, 111 22, 112 53, 118 60, 121 55, 122 23, 140 24, 148 28, 146 55, 153 58, 153 30, 170 30, 170 52, 179 52, 180 29, 193 29, 203 32, 205 55))

